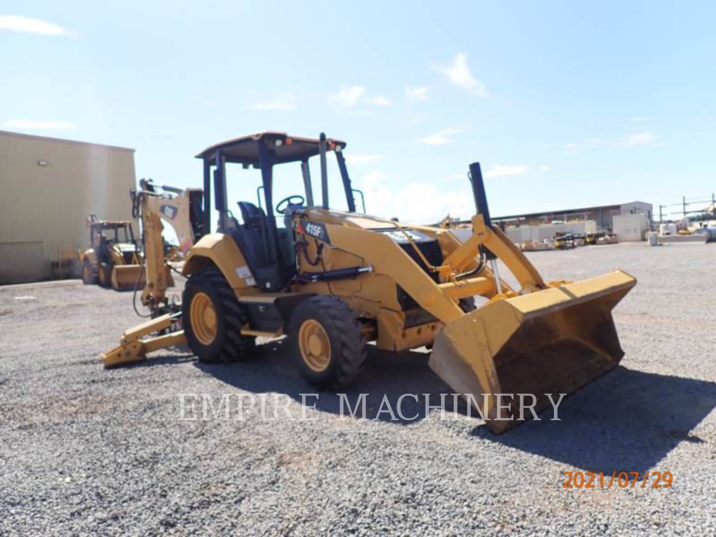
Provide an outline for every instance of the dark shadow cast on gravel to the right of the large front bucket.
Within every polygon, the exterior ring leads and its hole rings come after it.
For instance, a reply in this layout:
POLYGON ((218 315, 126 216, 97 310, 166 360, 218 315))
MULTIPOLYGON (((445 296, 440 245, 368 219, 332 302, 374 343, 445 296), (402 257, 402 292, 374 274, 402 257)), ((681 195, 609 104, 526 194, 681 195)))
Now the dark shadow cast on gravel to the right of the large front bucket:
POLYGON ((659 460, 682 441, 704 442, 690 431, 715 407, 716 382, 620 366, 565 397, 560 421, 549 409, 505 435, 479 425, 473 436, 593 472, 669 470, 659 460))

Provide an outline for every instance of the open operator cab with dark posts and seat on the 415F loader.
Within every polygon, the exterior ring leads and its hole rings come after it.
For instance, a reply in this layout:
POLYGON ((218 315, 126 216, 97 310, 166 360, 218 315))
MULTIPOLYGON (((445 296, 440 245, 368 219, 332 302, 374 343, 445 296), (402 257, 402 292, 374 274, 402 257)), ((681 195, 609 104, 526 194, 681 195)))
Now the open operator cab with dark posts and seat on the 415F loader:
POLYGON ((208 200, 211 199, 213 183, 214 208, 219 217, 218 231, 226 233, 238 243, 246 257, 248 269, 251 269, 258 286, 264 291, 280 291, 296 274, 294 213, 306 208, 329 208, 327 153, 333 152, 336 155, 348 211, 356 212, 353 193, 362 193, 351 186, 343 156, 345 147, 346 142, 326 138, 323 133, 316 139, 292 137, 285 132, 260 132, 220 142, 196 155, 204 163, 204 228, 211 228, 208 200), (321 205, 314 203, 311 185, 309 159, 315 156, 320 161, 321 205), (261 170, 261 185, 257 188, 258 205, 245 200, 238 201, 236 205, 241 223, 235 218, 232 205, 227 200, 227 163, 241 164, 244 170, 261 170), (289 195, 274 205, 274 166, 289 163, 301 165, 304 194, 289 195), (263 207, 266 207, 266 211, 263 207), (276 223, 276 218, 281 216, 285 228, 279 228, 276 223))

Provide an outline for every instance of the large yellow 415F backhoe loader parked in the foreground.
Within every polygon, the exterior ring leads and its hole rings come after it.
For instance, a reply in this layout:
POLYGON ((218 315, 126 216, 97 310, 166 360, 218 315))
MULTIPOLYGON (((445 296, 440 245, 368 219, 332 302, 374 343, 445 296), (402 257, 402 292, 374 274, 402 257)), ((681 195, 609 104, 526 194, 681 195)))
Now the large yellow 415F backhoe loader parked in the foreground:
POLYGON ((574 392, 616 367, 624 352, 611 310, 636 284, 632 276, 544 281, 491 223, 478 163, 468 174, 477 213, 465 241, 447 229, 357 213, 345 147, 323 134, 263 132, 200 153, 204 226, 210 228, 213 185, 218 231, 189 250, 182 311, 125 332, 120 347, 102 355, 105 366, 182 342, 202 362, 233 362, 251 354, 257 336, 286 334, 304 377, 334 390, 357 379, 369 341, 396 352, 432 345, 430 367, 494 432, 519 423, 510 419, 516 409, 500 405, 496 394, 533 394, 541 410, 546 394, 574 392), (344 210, 329 205, 329 153, 337 158, 344 210), (309 173, 314 157, 320 203, 309 173), (240 201, 241 222, 234 218, 227 163, 261 170, 266 213, 240 201), (274 213, 273 170, 289 163, 301 165, 304 194, 279 201, 274 213), (500 279, 498 259, 516 287, 500 279), (474 296, 485 303, 475 308, 474 296), (183 330, 151 336, 177 321, 183 330))

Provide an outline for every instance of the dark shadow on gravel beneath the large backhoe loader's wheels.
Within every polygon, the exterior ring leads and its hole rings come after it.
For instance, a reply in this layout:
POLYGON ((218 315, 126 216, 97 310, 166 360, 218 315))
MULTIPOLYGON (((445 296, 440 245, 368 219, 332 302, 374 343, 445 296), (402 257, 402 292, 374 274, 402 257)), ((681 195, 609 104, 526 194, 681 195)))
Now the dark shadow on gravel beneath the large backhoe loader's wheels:
MULTIPOLYGON (((319 394, 319 399, 309 398, 306 401, 313 404, 316 410, 339 414, 341 412, 341 398, 336 392, 323 392, 307 384, 299 374, 293 363, 286 339, 279 339, 259 345, 253 351, 254 356, 246 362, 229 365, 208 365, 196 362, 195 365, 202 371, 213 375, 221 382, 248 392, 276 392, 289 395, 292 399, 301 402, 301 394, 319 394)), ((425 396, 430 394, 430 405, 440 405, 440 394, 451 393, 450 387, 442 382, 427 365, 429 353, 406 351, 400 354, 381 352, 374 346, 368 346, 368 359, 365 369, 358 377, 357 382, 349 388, 338 390, 346 394, 349 405, 354 408, 359 396, 367 394, 366 417, 400 425, 410 425, 425 418, 425 396), (397 414, 398 398, 403 394, 415 394, 405 397, 400 409, 406 419, 397 414), (377 412, 387 396, 397 420, 391 420, 388 412, 377 412)), ((445 410, 465 415, 467 405, 463 401, 453 409, 453 399, 447 397, 445 410)), ((350 410, 345 407, 344 412, 349 415, 350 410)))

